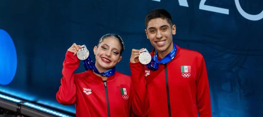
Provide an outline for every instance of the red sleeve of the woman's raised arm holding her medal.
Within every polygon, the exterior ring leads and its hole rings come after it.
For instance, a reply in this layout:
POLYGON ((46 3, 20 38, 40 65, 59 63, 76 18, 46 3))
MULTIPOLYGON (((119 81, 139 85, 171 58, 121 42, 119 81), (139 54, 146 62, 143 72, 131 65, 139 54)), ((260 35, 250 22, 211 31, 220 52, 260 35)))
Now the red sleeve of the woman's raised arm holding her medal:
POLYGON ((63 62, 61 86, 56 94, 56 99, 64 105, 71 105, 76 100, 76 86, 74 83, 74 71, 79 67, 79 59, 70 51, 66 52, 63 62))

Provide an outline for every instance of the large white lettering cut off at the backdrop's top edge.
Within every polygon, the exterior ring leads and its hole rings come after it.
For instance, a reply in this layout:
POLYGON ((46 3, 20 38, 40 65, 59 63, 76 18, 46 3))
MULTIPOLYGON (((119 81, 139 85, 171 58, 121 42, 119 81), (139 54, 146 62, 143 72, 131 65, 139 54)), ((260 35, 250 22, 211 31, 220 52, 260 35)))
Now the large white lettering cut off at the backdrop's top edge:
MULTIPOLYGON (((159 2, 160 2, 161 0, 153 0, 153 1, 159 1, 159 2)), ((223 13, 223 14, 229 15, 229 9, 205 5, 205 1, 207 1, 207 0, 201 0, 201 1, 200 1, 199 9, 206 10, 206 11, 217 12, 217 13, 223 13)), ((260 19, 263 18, 263 9, 262 9, 261 13, 259 13, 259 14, 257 14, 257 15, 251 15, 251 14, 246 13, 246 12, 241 8, 240 3, 239 3, 239 0, 234 0, 234 1, 235 1, 236 8, 237 8, 238 12, 239 12, 244 18, 246 18, 246 19, 248 19, 248 20, 253 20, 253 21, 260 20, 260 19)), ((180 5, 180 6, 189 7, 187 0, 178 0, 178 2, 179 2, 179 5, 180 5)))

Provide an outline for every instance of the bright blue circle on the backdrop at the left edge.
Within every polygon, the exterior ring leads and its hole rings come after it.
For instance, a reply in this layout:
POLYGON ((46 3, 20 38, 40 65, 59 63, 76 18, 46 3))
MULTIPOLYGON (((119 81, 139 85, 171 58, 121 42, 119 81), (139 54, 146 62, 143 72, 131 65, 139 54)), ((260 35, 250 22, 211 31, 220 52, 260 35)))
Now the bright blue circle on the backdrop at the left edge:
POLYGON ((15 77, 17 56, 10 35, 0 29, 0 85, 8 85, 15 77))

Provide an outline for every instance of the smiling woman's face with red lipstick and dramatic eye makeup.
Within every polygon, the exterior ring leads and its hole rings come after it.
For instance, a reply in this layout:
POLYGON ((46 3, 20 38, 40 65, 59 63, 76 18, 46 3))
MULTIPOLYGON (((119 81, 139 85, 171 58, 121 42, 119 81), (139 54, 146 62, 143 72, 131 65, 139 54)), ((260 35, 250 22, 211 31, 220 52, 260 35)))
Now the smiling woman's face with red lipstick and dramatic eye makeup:
POLYGON ((99 72, 104 72, 114 67, 122 59, 120 56, 121 49, 120 42, 115 37, 107 37, 98 47, 94 47, 95 66, 99 72))

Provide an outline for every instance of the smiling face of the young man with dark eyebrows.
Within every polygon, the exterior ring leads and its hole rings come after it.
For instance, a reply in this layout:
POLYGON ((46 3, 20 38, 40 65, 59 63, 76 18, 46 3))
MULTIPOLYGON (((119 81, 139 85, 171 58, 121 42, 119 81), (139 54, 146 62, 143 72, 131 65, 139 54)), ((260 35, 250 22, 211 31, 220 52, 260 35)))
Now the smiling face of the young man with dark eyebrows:
POLYGON ((145 33, 147 39, 150 40, 151 44, 158 52, 167 53, 173 48, 172 35, 175 35, 175 31, 175 25, 171 27, 166 19, 155 18, 148 22, 145 33))

